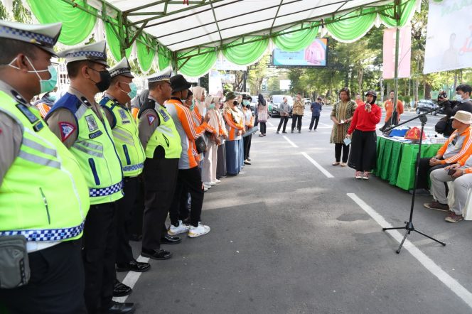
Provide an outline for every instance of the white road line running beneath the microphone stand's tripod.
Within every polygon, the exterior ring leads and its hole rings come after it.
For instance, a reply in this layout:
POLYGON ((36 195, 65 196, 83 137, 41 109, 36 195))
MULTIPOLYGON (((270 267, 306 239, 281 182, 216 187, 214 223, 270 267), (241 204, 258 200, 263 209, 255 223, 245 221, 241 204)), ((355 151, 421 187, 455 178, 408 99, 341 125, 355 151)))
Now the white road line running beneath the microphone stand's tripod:
MULTIPOLYGON (((377 213, 372 207, 367 205, 363 200, 361 200, 358 195, 355 193, 347 193, 348 197, 350 197, 360 208, 362 208, 365 212, 372 217, 377 224, 380 224, 382 228, 390 228, 392 224, 387 222, 384 217, 382 217, 379 213, 377 213)), ((390 235, 397 240, 398 243, 402 242, 403 234, 400 234, 397 230, 387 230, 386 232, 390 233, 390 235)), ((472 308, 472 293, 464 288, 461 283, 458 283, 456 279, 452 278, 446 271, 442 270, 432 259, 430 259, 426 254, 420 251, 417 247, 409 242, 408 239, 404 242, 403 245, 404 249, 407 249, 412 256, 421 263, 424 268, 431 272, 434 276, 436 276, 439 281, 444 283, 446 287, 451 289, 456 295, 461 298, 468 306, 472 308)))

